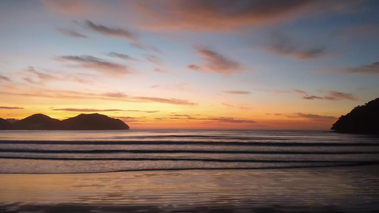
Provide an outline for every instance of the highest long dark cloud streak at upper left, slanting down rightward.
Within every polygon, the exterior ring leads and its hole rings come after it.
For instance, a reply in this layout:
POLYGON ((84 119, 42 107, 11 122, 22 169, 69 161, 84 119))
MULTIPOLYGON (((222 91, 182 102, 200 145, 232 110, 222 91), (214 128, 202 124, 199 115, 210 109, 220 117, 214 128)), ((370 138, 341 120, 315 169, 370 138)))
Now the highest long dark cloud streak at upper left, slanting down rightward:
POLYGON ((133 43, 139 43, 139 40, 135 36, 135 34, 125 29, 105 27, 104 25, 95 24, 91 22, 90 20, 85 20, 85 26, 97 33, 100 33, 106 36, 112 36, 116 38, 126 39, 133 43))

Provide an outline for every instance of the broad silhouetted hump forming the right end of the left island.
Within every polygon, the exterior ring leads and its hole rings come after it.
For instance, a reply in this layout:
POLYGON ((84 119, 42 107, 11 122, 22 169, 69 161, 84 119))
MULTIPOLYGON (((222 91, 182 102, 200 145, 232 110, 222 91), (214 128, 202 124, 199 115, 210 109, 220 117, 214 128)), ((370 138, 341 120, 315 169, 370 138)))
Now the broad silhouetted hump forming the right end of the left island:
POLYGON ((80 114, 61 121, 63 130, 127 130, 129 126, 120 119, 103 114, 80 114))

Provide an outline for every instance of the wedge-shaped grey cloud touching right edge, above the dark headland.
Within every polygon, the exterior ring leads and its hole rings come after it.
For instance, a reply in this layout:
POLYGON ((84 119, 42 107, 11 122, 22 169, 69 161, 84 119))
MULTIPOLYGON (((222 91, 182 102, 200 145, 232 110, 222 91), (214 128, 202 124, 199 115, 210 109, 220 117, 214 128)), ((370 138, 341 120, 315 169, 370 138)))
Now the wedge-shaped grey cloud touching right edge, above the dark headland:
POLYGON ((379 74, 379 61, 356 67, 321 69, 323 72, 337 72, 341 74, 379 74))

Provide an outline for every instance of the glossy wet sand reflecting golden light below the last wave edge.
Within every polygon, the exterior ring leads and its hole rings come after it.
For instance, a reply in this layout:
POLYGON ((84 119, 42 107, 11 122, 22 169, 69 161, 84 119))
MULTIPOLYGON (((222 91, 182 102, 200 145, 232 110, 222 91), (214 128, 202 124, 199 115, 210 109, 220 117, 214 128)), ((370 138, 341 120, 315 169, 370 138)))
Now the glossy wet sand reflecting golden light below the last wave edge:
POLYGON ((0 212, 378 212, 379 167, 0 174, 0 212))

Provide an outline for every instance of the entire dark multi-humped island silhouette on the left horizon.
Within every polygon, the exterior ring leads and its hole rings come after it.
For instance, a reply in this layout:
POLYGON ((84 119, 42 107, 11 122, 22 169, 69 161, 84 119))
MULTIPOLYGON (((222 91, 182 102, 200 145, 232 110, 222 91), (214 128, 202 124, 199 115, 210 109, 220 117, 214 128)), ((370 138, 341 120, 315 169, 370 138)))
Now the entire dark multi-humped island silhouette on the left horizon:
POLYGON ((44 114, 33 114, 17 121, 0 118, 0 130, 128 130, 120 119, 103 114, 80 114, 62 121, 44 114))

